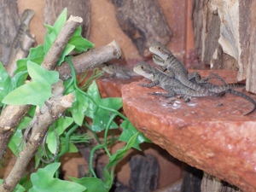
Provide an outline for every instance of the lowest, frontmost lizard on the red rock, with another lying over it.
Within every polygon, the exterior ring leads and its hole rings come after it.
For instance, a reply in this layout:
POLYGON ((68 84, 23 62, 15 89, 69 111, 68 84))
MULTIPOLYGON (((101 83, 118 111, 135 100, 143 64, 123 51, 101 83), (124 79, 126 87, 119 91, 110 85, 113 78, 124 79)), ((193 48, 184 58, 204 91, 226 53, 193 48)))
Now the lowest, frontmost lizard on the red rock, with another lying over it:
MULTIPOLYGON (((176 96, 176 94, 182 94, 185 96, 209 96, 207 95, 206 92, 201 93, 199 91, 193 90, 184 84, 182 84, 180 81, 177 79, 171 78, 168 76, 166 73, 161 72, 159 69, 156 69, 154 67, 151 67, 148 65, 148 63, 141 61, 139 62, 134 68, 133 68, 135 73, 138 73, 140 75, 143 75, 143 77, 150 79, 152 83, 150 84, 140 84, 145 87, 153 87, 154 85, 158 85, 162 89, 166 90, 168 93, 153 93, 154 95, 159 95, 159 96, 166 96, 166 97, 171 97, 171 96, 176 96)), ((207 86, 210 91, 215 90, 216 86, 218 86, 218 90, 228 92, 230 94, 236 95, 236 96, 241 96, 242 98, 246 99, 248 102, 253 103, 253 109, 249 111, 248 113, 245 113, 244 115, 247 115, 249 113, 253 113, 253 111, 256 109, 256 102, 254 100, 239 92, 236 90, 232 90, 232 87, 237 88, 239 87, 239 84, 224 84, 224 85, 214 85, 210 83, 202 83, 203 86, 207 86)), ((210 92, 211 93, 211 92, 210 92)), ((210 95, 211 96, 211 95, 210 95)), ((222 96, 222 95, 219 95, 222 96)), ((224 96, 224 95, 223 95, 224 96)))

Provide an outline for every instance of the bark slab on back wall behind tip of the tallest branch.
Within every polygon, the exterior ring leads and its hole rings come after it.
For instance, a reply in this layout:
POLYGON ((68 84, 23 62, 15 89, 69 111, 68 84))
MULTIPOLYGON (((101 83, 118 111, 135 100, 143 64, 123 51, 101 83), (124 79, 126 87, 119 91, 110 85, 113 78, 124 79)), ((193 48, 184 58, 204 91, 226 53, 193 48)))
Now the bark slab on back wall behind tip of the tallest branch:
POLYGON ((45 0, 44 22, 53 25, 64 8, 67 8, 67 17, 73 15, 83 18, 83 36, 84 38, 88 38, 90 35, 90 1, 45 0))

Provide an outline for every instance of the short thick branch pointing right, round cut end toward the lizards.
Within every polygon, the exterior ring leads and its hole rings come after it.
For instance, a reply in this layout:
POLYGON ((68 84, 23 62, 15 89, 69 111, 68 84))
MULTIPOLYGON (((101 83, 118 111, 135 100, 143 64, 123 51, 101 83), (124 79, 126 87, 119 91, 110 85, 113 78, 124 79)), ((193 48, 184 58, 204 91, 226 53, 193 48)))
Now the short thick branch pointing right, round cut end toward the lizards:
MULTIPOLYGON (((84 54, 74 56, 71 61, 77 74, 84 73, 86 70, 100 66, 103 62, 111 61, 113 59, 119 59, 121 56, 121 50, 119 44, 113 41, 105 46, 90 49, 84 54)), ((61 80, 70 79, 71 69, 67 62, 61 64, 56 70, 60 73, 61 80)))

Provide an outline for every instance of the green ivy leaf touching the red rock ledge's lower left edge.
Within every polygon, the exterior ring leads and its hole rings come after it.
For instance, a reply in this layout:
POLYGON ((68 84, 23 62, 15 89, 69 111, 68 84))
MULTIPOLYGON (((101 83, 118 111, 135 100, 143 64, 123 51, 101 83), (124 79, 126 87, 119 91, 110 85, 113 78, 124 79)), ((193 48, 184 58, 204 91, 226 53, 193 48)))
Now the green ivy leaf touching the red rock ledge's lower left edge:
POLYGON ((119 137, 119 141, 128 143, 131 140, 131 137, 134 137, 134 135, 138 134, 136 142, 133 143, 133 148, 141 150, 141 148, 139 147, 140 143, 151 143, 151 141, 147 137, 145 137, 143 133, 137 131, 137 129, 131 124, 130 121, 124 120, 120 127, 123 128, 123 131, 121 136, 119 137))

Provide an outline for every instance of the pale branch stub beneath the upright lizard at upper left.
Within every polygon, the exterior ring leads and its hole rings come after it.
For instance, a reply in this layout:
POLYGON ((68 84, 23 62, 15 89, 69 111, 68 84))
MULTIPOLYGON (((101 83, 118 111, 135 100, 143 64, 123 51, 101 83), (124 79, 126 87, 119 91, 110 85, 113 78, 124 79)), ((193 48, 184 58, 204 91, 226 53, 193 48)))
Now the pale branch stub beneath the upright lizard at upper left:
POLYGON ((16 61, 25 58, 28 55, 29 49, 32 48, 35 43, 36 40, 33 36, 25 35, 22 43, 22 49, 20 47, 15 57, 11 58, 11 61, 9 61, 8 66, 6 67, 6 71, 9 73, 10 77, 13 77, 15 74, 15 70, 17 68, 16 61))

